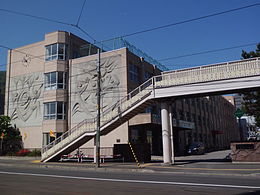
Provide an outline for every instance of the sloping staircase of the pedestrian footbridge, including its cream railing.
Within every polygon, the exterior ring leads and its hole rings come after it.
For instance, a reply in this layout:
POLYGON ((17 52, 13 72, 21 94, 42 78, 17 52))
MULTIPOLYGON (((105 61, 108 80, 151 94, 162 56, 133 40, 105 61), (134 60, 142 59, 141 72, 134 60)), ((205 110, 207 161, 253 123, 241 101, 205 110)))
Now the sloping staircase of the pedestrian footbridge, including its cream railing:
MULTIPOLYGON (((152 103, 153 79, 133 90, 101 115, 101 135, 107 134, 152 103)), ((42 149, 42 162, 57 161, 96 134, 96 119, 84 120, 42 149)))

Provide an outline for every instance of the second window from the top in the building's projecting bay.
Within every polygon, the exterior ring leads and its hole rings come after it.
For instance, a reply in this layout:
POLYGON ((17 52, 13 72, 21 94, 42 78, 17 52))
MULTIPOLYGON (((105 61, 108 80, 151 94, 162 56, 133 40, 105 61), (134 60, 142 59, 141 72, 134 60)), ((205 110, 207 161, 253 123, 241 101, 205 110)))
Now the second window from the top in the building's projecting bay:
POLYGON ((66 89, 66 72, 50 72, 45 74, 45 90, 66 89))

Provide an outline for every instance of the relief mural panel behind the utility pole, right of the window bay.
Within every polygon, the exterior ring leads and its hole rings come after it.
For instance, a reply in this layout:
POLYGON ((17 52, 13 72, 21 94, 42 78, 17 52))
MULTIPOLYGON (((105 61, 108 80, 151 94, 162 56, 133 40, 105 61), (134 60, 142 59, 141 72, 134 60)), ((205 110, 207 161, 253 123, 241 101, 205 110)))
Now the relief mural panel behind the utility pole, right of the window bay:
MULTIPOLYGON (((120 98, 120 56, 101 59, 101 112, 112 108, 120 98)), ((96 117, 96 60, 72 67, 72 123, 96 117)))

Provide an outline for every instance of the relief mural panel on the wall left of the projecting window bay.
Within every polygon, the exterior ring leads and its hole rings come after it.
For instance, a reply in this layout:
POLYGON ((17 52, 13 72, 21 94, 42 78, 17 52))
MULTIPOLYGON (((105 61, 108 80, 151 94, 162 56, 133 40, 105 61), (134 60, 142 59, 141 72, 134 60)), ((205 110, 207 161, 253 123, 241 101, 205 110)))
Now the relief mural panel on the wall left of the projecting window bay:
POLYGON ((42 73, 33 73, 11 78, 9 94, 9 115, 17 127, 42 124, 42 73))

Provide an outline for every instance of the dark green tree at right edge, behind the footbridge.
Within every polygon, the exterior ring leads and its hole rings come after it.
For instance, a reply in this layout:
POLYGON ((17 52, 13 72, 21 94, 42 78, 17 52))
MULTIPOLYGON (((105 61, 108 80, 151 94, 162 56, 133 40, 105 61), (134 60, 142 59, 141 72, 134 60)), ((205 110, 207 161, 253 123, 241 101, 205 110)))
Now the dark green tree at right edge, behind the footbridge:
MULTIPOLYGON (((255 51, 246 52, 242 50, 241 56, 244 59, 260 57, 260 43, 257 44, 255 51)), ((256 126, 260 127, 260 90, 243 92, 243 107, 244 112, 249 116, 254 116, 256 126)))

